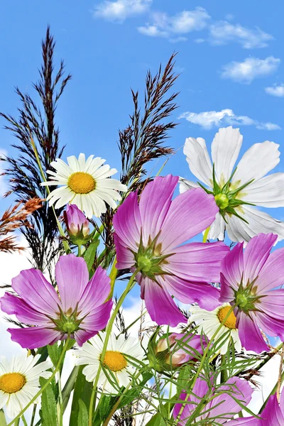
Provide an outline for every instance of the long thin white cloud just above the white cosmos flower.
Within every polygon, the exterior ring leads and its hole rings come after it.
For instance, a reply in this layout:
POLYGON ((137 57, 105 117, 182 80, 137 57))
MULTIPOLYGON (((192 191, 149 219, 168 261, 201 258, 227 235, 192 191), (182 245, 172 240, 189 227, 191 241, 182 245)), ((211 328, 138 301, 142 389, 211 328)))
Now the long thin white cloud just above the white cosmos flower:
POLYGON ((192 124, 197 124, 203 129, 212 129, 212 127, 221 126, 256 126, 256 129, 265 130, 280 130, 278 124, 273 123, 262 123, 257 120, 253 120, 248 116, 238 116, 234 114, 232 109, 222 109, 222 111, 203 111, 197 112, 184 112, 181 114, 179 119, 186 119, 192 124))

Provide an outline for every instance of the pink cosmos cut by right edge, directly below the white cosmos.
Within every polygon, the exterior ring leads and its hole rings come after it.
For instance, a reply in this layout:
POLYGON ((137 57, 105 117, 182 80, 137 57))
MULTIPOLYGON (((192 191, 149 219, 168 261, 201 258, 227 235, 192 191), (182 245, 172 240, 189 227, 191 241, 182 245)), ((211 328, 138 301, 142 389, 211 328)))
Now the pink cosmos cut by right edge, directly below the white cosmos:
POLYGON ((243 251, 236 244, 222 261, 222 302, 234 310, 242 346, 256 352, 268 346, 260 328, 269 336, 284 339, 284 249, 270 253, 277 235, 258 234, 243 251))

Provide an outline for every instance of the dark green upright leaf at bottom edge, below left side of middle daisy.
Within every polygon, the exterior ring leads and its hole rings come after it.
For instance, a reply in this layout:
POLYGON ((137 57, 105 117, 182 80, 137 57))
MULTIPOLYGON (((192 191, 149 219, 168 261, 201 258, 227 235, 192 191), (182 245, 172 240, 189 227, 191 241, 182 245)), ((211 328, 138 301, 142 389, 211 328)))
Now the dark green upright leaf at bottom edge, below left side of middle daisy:
POLYGON ((89 407, 89 401, 92 395, 92 383, 86 381, 86 378, 82 373, 83 368, 84 366, 80 366, 77 374, 69 426, 78 426, 78 417, 80 410, 79 400, 82 400, 86 407, 89 407))

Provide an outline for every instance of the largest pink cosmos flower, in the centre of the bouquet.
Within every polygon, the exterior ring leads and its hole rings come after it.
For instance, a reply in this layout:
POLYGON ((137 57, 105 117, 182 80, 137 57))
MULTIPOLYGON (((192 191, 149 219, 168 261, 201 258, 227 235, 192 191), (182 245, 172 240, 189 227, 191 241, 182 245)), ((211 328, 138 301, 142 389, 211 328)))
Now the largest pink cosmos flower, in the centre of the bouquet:
POLYGON ((139 203, 131 192, 114 215, 118 269, 140 268, 136 279, 141 297, 157 324, 175 327, 186 322, 171 295, 207 309, 218 305, 222 258, 229 250, 222 242, 184 244, 204 231, 218 208, 213 195, 196 188, 172 201, 178 176, 158 177, 148 183, 139 203))

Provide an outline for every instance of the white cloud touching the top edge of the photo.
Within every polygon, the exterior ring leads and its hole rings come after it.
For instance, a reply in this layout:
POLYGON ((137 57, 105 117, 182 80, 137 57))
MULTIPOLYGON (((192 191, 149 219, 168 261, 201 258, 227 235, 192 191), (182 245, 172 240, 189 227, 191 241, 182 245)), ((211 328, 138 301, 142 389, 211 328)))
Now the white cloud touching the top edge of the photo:
POLYGON ((148 11, 152 0, 105 0, 94 8, 94 17, 123 22, 131 16, 148 11))

